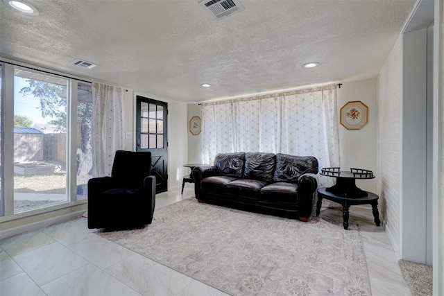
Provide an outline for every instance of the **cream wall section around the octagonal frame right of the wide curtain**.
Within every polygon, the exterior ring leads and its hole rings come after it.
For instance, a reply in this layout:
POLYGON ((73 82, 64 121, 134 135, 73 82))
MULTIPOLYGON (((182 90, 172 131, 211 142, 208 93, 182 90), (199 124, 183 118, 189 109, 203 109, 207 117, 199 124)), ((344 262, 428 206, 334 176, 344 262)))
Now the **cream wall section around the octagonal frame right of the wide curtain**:
MULTIPOLYGON (((339 124, 339 155, 341 168, 365 168, 377 171, 377 78, 343 82, 337 89, 338 118, 341 107, 350 101, 361 101, 368 107, 368 123, 360 130, 347 130, 339 124)), ((357 186, 376 193, 377 181, 357 180, 357 186)))

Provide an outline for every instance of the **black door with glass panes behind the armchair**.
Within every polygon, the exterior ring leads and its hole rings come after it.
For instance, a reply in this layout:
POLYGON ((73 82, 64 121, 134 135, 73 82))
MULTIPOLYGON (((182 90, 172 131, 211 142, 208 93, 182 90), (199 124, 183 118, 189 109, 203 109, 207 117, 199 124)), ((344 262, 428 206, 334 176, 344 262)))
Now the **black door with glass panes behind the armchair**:
POLYGON ((156 193, 168 190, 167 116, 168 103, 137 96, 136 150, 151 152, 156 193))

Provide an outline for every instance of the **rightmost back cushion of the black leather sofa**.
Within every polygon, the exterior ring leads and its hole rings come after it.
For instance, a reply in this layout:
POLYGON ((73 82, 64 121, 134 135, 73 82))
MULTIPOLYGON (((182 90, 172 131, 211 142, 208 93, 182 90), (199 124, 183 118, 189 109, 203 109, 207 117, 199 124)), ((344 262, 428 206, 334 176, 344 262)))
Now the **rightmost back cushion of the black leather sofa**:
POLYGON ((276 169, 274 181, 296 182, 300 175, 318 173, 318 159, 313 156, 293 156, 278 153, 276 155, 276 169))

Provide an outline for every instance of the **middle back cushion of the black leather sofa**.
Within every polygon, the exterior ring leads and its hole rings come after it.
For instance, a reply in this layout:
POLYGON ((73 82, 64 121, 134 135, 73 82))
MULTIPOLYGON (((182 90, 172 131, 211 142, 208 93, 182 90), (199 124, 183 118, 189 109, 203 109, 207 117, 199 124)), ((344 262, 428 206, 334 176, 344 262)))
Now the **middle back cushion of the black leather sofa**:
POLYGON ((264 181, 273 180, 275 156, 274 153, 246 153, 244 177, 264 181))

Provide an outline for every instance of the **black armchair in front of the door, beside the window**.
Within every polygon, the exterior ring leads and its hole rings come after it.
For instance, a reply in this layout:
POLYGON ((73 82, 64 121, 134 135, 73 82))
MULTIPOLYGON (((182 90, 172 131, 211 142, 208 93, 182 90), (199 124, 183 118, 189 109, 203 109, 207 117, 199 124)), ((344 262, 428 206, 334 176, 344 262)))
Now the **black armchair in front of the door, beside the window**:
POLYGON ((129 229, 151 224, 155 176, 151 153, 116 151, 111 177, 88 182, 88 228, 129 229))

